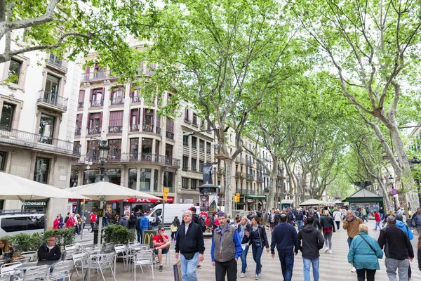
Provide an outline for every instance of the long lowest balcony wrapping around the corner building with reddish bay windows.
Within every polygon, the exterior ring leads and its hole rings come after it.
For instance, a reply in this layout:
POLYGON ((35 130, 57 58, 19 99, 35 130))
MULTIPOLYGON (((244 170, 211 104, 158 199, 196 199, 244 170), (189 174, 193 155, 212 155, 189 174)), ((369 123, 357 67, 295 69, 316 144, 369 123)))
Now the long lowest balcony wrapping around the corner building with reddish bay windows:
MULTIPOLYGON (((93 157, 91 155, 82 155, 80 159, 75 160, 73 163, 84 164, 86 160, 94 164, 100 164, 99 155, 94 155, 93 157)), ((180 159, 145 152, 109 155, 107 163, 156 164, 160 166, 172 166, 176 169, 180 168, 180 159)))

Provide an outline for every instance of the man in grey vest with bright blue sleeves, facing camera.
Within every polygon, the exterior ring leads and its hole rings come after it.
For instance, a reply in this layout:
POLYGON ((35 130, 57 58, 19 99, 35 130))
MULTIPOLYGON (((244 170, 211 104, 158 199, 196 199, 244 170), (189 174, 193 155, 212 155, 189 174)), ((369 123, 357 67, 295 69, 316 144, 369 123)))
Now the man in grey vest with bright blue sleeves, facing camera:
POLYGON ((215 280, 236 281, 237 261, 243 249, 238 231, 227 224, 227 215, 218 214, 220 225, 215 229, 210 247, 212 266, 215 267, 215 280))

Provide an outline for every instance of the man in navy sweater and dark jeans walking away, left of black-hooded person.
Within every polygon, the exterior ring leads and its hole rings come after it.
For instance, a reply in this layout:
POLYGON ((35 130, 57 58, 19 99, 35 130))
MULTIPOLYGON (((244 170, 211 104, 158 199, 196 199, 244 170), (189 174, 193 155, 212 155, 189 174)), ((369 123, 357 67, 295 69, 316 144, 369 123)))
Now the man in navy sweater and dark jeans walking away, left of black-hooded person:
POLYGON ((284 281, 291 281, 293 277, 294 253, 298 254, 298 235, 293 226, 287 223, 287 216, 281 215, 281 223, 275 226, 272 232, 270 251, 272 259, 275 257, 275 247, 278 251, 279 261, 284 281))

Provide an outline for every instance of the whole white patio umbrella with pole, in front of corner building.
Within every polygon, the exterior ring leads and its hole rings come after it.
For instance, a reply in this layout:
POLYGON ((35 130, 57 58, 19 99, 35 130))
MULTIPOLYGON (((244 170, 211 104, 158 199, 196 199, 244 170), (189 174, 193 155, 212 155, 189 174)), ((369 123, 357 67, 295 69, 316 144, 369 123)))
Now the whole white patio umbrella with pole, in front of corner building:
MULTIPOLYGON (((91 183, 87 185, 77 186, 70 190, 74 194, 83 195, 89 197, 93 200, 100 201, 100 209, 104 208, 104 201, 107 200, 125 200, 128 198, 142 198, 142 199, 154 199, 162 200, 162 198, 156 197, 154 195, 147 194, 145 192, 140 192, 130 188, 126 188, 121 185, 116 185, 114 183, 108 183, 107 181, 100 181, 98 183, 91 183)), ((85 204, 83 204, 83 208, 85 204)), ((83 211, 84 213, 84 211, 83 211)), ((101 244, 102 236, 102 216, 98 221, 98 246, 101 244)))

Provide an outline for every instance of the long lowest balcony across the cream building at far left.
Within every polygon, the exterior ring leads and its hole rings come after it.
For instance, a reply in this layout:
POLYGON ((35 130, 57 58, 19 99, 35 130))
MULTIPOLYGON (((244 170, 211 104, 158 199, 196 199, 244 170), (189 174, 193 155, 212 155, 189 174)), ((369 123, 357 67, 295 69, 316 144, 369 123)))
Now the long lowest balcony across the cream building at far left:
POLYGON ((0 128, 0 143, 48 152, 58 152, 66 155, 80 155, 79 152, 74 151, 74 144, 72 142, 15 129, 0 128))

